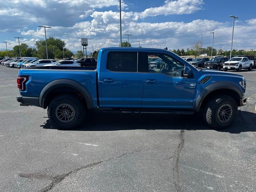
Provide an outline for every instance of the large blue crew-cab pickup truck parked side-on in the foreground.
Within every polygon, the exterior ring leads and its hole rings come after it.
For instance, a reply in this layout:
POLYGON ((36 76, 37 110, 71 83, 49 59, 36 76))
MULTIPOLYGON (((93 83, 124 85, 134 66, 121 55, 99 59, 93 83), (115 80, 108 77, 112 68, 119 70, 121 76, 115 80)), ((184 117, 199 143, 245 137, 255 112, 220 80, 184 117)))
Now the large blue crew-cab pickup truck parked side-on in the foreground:
POLYGON ((74 128, 91 109, 194 114, 213 128, 230 126, 246 104, 243 76, 194 67, 163 49, 102 48, 96 68, 31 67, 18 72, 17 101, 46 109, 51 122, 74 128), (162 59, 150 67, 150 57, 162 59))

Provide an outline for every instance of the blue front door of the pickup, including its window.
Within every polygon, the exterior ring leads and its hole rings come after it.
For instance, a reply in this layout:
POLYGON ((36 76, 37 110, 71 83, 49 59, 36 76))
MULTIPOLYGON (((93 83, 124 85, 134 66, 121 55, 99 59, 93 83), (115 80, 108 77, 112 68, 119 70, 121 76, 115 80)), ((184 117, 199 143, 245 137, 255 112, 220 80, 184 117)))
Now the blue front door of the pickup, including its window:
POLYGON ((191 109, 193 106, 196 79, 182 77, 184 63, 166 53, 148 52, 143 57, 144 90, 142 108, 191 109), (160 69, 149 68, 148 60, 154 56, 164 64, 160 69))

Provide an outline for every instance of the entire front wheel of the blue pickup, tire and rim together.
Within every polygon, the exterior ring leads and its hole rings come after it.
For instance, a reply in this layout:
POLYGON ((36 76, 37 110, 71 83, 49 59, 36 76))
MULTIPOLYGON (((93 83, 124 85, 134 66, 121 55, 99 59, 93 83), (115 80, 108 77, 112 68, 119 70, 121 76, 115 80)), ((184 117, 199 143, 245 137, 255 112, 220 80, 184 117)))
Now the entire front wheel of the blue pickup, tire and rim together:
POLYGON ((215 129, 224 129, 236 119, 237 105, 234 98, 218 95, 210 98, 204 108, 204 121, 215 129))

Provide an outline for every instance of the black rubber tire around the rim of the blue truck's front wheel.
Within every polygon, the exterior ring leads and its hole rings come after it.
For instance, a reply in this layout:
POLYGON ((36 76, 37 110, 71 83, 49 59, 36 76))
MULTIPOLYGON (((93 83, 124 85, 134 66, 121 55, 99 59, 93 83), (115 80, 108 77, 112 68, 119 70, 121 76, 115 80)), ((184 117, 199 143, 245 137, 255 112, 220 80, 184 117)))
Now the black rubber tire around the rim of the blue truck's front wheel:
POLYGON ((203 118, 208 126, 214 129, 224 129, 232 125, 237 115, 237 104, 234 98, 227 95, 217 95, 209 99, 204 107, 203 118), (218 119, 218 110, 224 105, 229 105, 232 108, 232 115, 227 122, 221 122, 218 119))

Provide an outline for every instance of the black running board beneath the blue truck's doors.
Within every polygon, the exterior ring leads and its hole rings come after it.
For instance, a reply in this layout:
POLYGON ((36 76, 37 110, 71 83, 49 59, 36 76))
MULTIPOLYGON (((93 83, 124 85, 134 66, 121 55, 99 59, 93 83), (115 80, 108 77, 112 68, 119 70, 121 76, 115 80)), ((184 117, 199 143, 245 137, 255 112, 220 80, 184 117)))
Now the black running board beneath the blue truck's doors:
POLYGON ((130 113, 130 114, 182 114, 192 115, 194 111, 188 110, 129 110, 129 109, 104 109, 106 113, 130 113))

